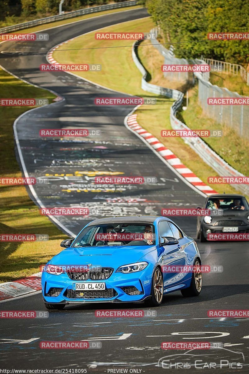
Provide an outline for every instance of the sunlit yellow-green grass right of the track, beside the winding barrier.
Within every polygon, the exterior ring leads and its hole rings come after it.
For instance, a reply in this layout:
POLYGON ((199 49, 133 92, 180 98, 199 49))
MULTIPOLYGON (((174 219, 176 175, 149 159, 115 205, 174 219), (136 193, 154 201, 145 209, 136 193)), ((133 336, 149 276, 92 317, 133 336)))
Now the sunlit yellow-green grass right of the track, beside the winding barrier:
MULTIPOLYGON (((146 18, 139 21, 125 22, 122 24, 122 31, 149 31, 153 26, 151 19, 146 18)), ((109 27, 108 30, 102 29, 102 31, 120 31, 120 26, 109 27)), ((131 44, 132 43, 129 43, 128 41, 121 40, 102 40, 101 47, 124 47, 91 49, 87 53, 87 56, 85 56, 84 51, 77 50, 77 48, 80 48, 82 45, 84 45, 85 48, 96 48, 99 46, 99 42, 94 38, 94 33, 90 33, 68 42, 66 48, 76 50, 65 51, 65 45, 63 45, 56 49, 53 56, 56 61, 63 63, 75 63, 83 61, 84 59, 84 62, 87 64, 102 64, 101 72, 87 71, 80 72, 78 75, 117 91, 138 96, 155 96, 157 98, 156 105, 143 105, 136 111, 138 114, 138 123, 147 131, 155 135, 158 140, 165 145, 165 147, 174 152, 188 168, 201 178, 203 182, 207 183, 207 178, 211 175, 217 175, 217 173, 215 173, 211 167, 206 165, 206 163, 187 144, 185 144, 181 138, 166 139, 161 137, 162 129, 171 129, 169 110, 173 100, 153 95, 152 93, 145 92, 141 89, 141 74, 131 57, 131 44), (63 49, 63 57, 60 49, 63 49)), ((164 59, 158 50, 153 46, 148 46, 148 44, 150 44, 149 41, 141 43, 141 46, 138 48, 138 55, 144 67, 149 72, 150 83, 168 88, 177 88, 181 91, 183 91, 184 88, 188 88, 183 82, 169 82, 165 80, 160 68, 164 63, 164 59)), ((199 125, 198 120, 196 123, 199 125)), ((224 191, 226 193, 236 193, 236 190, 229 185, 210 186, 220 193, 223 193, 224 191)))

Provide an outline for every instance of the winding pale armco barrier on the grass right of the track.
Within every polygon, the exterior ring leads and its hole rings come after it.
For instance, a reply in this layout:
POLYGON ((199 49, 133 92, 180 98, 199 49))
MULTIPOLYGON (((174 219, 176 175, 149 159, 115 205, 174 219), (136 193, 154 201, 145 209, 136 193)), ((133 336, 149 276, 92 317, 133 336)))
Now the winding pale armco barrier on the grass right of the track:
MULTIPOLYGON (((189 129, 184 123, 177 119, 175 114, 177 113, 178 109, 181 107, 183 102, 183 92, 178 90, 173 90, 169 88, 163 88, 160 86, 152 85, 151 83, 146 82, 147 71, 144 69, 143 65, 140 63, 138 55, 137 55, 137 46, 141 43, 141 40, 137 40, 132 47, 132 58, 134 63, 136 64, 137 68, 143 74, 142 81, 141 81, 141 88, 144 91, 158 93, 159 95, 164 95, 169 98, 176 99, 173 103, 172 107, 170 108, 170 123, 173 129, 189 129)), ((202 63, 204 61, 200 60, 202 63)), ((201 73, 194 73, 198 79, 201 79, 201 73), (198 76, 199 74, 199 76, 198 76)), ((184 141, 205 161, 205 163, 211 166, 220 176, 224 177, 234 177, 234 176, 244 176, 236 169, 232 168, 232 166, 228 165, 227 162, 222 160, 217 153, 215 153, 201 138, 183 138, 184 141)), ((236 190, 249 195, 249 186, 247 184, 235 184, 232 185, 236 190)))

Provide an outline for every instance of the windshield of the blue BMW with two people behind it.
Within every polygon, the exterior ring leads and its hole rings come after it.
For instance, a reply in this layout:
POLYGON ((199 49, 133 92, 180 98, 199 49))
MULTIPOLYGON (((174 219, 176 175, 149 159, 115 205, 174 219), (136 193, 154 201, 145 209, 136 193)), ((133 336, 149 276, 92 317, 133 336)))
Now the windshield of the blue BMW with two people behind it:
POLYGON ((155 245, 155 228, 146 223, 88 226, 77 236, 73 247, 104 245, 155 245))

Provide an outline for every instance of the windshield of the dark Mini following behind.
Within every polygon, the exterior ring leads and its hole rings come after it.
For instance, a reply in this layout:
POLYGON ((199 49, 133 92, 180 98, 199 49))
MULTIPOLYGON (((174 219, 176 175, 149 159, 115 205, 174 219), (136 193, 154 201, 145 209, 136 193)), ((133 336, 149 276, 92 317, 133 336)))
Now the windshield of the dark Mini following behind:
POLYGON ((212 197, 212 199, 208 199, 206 209, 249 210, 249 206, 243 196, 212 197))

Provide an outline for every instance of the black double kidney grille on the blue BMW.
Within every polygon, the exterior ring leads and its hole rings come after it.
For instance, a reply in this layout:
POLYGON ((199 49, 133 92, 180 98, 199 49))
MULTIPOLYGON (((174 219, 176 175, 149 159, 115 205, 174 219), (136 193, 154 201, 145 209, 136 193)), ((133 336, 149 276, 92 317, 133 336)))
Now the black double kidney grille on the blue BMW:
POLYGON ((91 270, 67 270, 66 273, 70 279, 74 281, 103 280, 108 279, 112 275, 113 269, 111 267, 98 267, 91 270))

